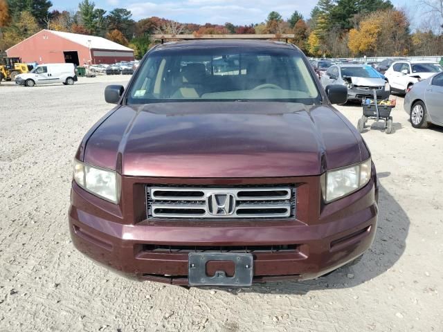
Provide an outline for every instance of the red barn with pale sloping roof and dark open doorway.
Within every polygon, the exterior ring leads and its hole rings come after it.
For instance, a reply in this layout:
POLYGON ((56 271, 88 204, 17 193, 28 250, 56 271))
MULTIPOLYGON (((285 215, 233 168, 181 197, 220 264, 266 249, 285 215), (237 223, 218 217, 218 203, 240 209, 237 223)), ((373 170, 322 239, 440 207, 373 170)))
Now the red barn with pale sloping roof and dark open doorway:
POLYGON ((22 62, 39 64, 114 64, 134 60, 134 50, 108 39, 53 30, 42 30, 8 48, 6 53, 8 57, 21 57, 22 62))

